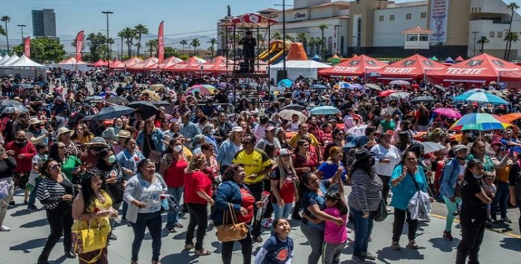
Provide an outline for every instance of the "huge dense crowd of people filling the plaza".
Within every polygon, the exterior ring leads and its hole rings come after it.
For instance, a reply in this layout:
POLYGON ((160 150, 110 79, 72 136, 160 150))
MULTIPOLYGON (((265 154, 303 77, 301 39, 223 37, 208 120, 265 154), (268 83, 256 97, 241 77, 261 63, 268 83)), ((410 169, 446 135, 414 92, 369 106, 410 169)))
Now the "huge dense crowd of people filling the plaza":
POLYGON ((13 192, 23 190, 27 210, 41 210, 40 201, 51 230, 38 264, 48 263, 62 235, 68 258, 108 263, 108 244, 100 251, 75 252, 72 231, 94 221, 108 226, 103 236, 116 240, 112 229, 119 218, 133 230, 131 263, 140 259, 146 229, 151 261, 159 263, 163 227, 169 233, 185 229, 184 249, 207 256, 212 254, 204 247, 207 226, 232 220, 250 230, 243 238, 222 242, 222 263, 231 263, 235 241, 243 263, 251 263, 252 243, 263 242, 263 229, 272 236, 254 263, 291 263, 294 258, 304 263, 305 256, 292 254, 290 218, 311 247, 308 263, 321 258, 339 263, 348 244, 354 247, 352 261, 366 263, 376 258, 368 244, 382 202, 394 212, 390 247, 402 249, 404 224, 406 246, 420 247, 415 238, 421 217, 410 207, 415 195, 426 193, 447 206, 440 237, 454 240, 453 222, 459 217, 456 264, 463 264, 467 258, 479 263, 487 226, 512 223, 506 215, 509 205, 521 210, 516 123, 506 129, 457 131, 450 129, 456 118, 434 113, 437 108, 461 115, 516 113, 521 109, 517 91, 493 82, 479 87, 501 92, 509 102, 491 105, 454 101, 476 88, 456 83, 440 88, 423 81, 385 85, 301 76, 286 88, 274 86, 274 80, 102 69, 53 69, 47 82, 42 76, 2 76, 0 190, 5 202, 0 204, 0 231, 10 231, 3 220, 8 205, 19 202, 13 192), (353 88, 336 88, 338 81, 353 88), (163 88, 149 89, 156 83, 163 88), (196 84, 213 85, 215 92, 186 92, 196 84), (410 96, 381 94, 391 89, 410 96), (411 102, 417 97, 432 99, 411 102), (87 118, 129 101, 166 104, 115 119, 87 118), (312 115, 317 106, 333 106, 338 113, 312 115), (290 115, 284 113, 288 109, 290 115), (363 131, 354 132, 359 127, 363 131), (426 151, 422 142, 441 147, 426 151), (162 213, 167 213, 165 226, 162 213), (186 227, 179 221, 183 213, 190 218, 186 227), (353 230, 347 229, 348 221, 353 230))

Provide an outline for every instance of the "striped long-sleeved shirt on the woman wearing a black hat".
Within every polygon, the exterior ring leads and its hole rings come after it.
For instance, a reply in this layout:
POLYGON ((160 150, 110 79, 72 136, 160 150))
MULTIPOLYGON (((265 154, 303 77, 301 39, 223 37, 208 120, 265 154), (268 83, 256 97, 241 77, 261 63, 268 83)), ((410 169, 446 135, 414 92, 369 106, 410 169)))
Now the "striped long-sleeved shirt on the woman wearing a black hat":
POLYGON ((382 199, 383 183, 376 173, 367 175, 364 170, 355 170, 352 174, 351 193, 348 197, 349 207, 357 211, 374 212, 382 199))

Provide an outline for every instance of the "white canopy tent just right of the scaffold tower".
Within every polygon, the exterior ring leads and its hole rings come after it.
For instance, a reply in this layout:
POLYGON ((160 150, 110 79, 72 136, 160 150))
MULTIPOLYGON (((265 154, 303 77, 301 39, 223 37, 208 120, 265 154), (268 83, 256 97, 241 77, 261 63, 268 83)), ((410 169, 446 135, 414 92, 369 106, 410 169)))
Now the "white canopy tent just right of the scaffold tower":
MULTIPOLYGON (((329 68, 331 65, 318 63, 315 60, 288 60, 286 61, 286 71, 288 71, 288 79, 295 80, 302 76, 311 76, 317 79, 320 69, 329 68)), ((270 67, 270 78, 276 79, 276 72, 283 69, 283 63, 277 63, 270 67)))

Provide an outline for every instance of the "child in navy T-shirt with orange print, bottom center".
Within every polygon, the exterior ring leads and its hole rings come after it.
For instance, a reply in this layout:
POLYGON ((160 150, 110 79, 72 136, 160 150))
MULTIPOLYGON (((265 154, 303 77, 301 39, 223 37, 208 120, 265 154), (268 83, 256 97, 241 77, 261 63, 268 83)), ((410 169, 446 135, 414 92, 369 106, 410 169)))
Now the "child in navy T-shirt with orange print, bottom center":
POLYGON ((275 235, 264 242, 255 256, 255 264, 290 264, 293 261, 293 239, 290 222, 278 218, 273 222, 275 235))

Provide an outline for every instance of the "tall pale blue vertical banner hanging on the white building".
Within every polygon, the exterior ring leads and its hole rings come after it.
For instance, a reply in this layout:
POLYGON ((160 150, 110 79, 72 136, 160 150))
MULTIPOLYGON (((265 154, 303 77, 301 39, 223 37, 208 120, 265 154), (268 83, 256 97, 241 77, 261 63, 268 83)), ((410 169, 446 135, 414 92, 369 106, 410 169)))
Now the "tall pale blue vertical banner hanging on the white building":
POLYGON ((431 0, 431 44, 447 41, 449 0, 431 0))

